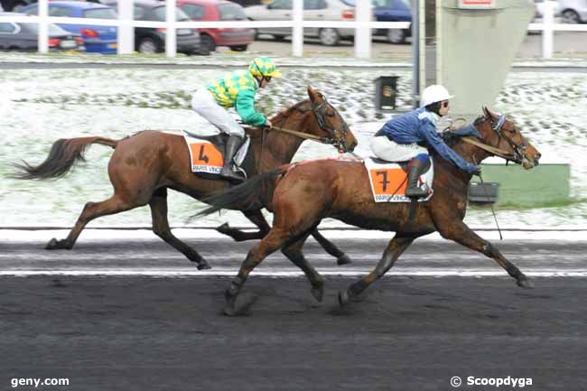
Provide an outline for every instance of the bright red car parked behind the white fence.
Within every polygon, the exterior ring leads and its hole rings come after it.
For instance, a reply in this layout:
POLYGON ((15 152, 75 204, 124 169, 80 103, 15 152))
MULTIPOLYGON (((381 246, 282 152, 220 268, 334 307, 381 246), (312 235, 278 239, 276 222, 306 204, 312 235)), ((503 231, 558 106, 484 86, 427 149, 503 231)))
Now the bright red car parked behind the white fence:
MULTIPOLYGON (((177 0, 177 6, 192 21, 246 21, 243 7, 226 0, 177 0)), ((217 46, 228 46, 233 51, 246 51, 255 41, 253 29, 199 29, 200 45, 215 51, 217 46)))

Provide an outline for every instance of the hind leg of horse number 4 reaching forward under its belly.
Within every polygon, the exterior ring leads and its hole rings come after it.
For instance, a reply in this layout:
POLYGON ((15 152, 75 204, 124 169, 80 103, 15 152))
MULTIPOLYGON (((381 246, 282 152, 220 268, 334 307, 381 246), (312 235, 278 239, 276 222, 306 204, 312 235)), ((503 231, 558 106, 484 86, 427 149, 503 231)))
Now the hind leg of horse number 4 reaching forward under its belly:
POLYGON ((153 198, 149 201, 149 207, 151 207, 151 216, 153 217, 154 234, 161 237, 167 244, 180 251, 184 256, 187 256, 191 262, 197 263, 198 269, 210 269, 208 262, 196 250, 173 236, 172 230, 169 228, 169 220, 167 219, 166 188, 157 189, 154 192, 153 198))

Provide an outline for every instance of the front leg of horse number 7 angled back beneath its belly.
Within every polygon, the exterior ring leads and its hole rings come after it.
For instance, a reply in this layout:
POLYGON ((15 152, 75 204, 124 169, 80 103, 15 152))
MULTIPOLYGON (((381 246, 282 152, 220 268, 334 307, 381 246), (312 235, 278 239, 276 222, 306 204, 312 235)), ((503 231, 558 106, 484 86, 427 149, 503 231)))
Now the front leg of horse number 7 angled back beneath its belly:
POLYGON ((361 292, 367 289, 370 284, 373 284, 375 280, 385 275, 396 263, 397 258, 399 258, 399 256, 404 253, 405 249, 412 244, 414 239, 415 237, 400 237, 397 235, 391 239, 375 269, 356 283, 351 284, 349 289, 339 293, 340 305, 342 306, 349 303, 350 298, 358 296, 361 292))

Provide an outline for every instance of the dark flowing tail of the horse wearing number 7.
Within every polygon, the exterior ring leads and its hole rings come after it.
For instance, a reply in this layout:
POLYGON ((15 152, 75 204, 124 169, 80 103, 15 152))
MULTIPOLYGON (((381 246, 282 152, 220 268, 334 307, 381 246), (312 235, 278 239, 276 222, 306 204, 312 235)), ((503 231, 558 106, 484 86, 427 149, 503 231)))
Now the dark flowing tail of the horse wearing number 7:
POLYGON ((226 191, 216 191, 201 199, 210 204, 193 217, 210 215, 220 209, 257 210, 265 208, 273 198, 277 180, 287 171, 280 167, 270 172, 260 173, 226 191))

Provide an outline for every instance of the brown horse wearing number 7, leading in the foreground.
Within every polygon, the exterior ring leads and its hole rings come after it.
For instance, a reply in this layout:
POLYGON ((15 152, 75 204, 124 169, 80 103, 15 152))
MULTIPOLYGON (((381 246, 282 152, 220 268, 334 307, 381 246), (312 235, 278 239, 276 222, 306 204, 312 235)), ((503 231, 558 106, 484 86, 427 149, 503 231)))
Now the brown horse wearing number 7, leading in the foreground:
MULTIPOLYGON (((471 163, 480 163, 489 155, 497 154, 523 164, 526 169, 534 167, 540 158, 536 148, 526 142, 517 127, 506 120, 505 116, 497 116, 486 107, 483 110, 484 116, 473 124, 480 140, 455 137, 451 143, 454 151, 471 163)), ((302 268, 312 284, 312 294, 321 301, 324 280, 307 263, 302 247, 308 235, 324 218, 340 219, 360 228, 396 232, 377 267, 358 282, 351 284, 347 291, 339 293, 340 305, 349 303, 350 298, 357 296, 377 278, 385 275, 416 237, 434 231, 493 258, 509 275, 516 278, 519 286, 530 287, 526 275, 516 265, 510 263, 497 248, 479 237, 462 221, 467 207, 471 174, 462 172, 435 154, 433 163, 434 193, 432 199, 426 202, 376 203, 364 164, 341 160, 318 160, 284 166, 206 199, 206 202, 214 206, 201 214, 233 206, 246 209, 247 202, 250 202, 253 209, 258 209, 261 206, 260 201, 274 212, 273 228, 249 251, 226 293, 228 306, 225 312, 229 315, 239 312, 235 303, 247 276, 278 248, 282 248, 284 254, 302 268), (272 194, 271 197, 265 198, 259 194, 258 189, 272 194)))

